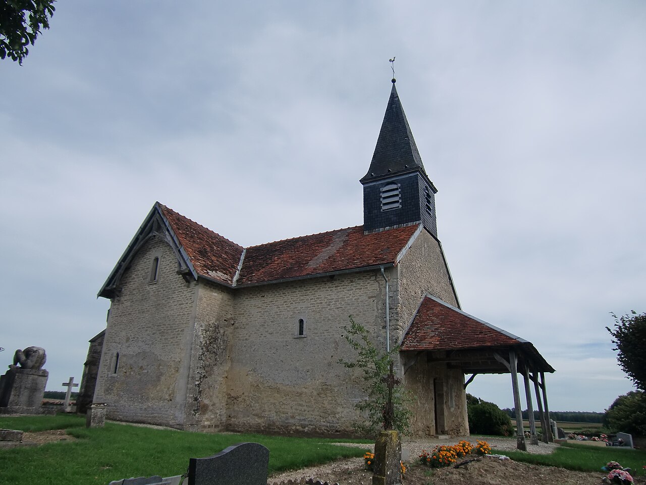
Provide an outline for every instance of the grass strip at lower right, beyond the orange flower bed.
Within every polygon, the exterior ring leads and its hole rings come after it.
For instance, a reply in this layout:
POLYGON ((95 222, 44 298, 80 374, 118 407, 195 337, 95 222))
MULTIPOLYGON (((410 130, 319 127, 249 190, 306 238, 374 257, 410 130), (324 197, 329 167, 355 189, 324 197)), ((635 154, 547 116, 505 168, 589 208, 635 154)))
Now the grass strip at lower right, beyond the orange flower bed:
POLYGON ((630 467, 633 476, 644 475, 642 466, 646 465, 646 451, 620 447, 595 447, 581 444, 561 445, 551 455, 531 455, 522 451, 497 451, 492 453, 507 455, 518 462, 537 465, 557 466, 578 471, 601 471, 607 462, 616 461, 623 467, 630 467))

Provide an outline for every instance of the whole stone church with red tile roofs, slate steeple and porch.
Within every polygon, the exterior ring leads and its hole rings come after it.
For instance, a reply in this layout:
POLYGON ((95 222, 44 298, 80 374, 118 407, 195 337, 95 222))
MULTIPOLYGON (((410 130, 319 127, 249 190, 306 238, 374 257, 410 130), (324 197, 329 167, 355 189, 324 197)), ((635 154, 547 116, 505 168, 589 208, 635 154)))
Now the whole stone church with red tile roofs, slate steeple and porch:
POLYGON ((360 183, 362 226, 248 248, 156 202, 99 291, 111 305, 94 402, 179 429, 349 435, 362 398, 359 372, 337 363, 355 356, 350 314, 377 347, 400 346, 414 436, 468 435, 465 374, 509 372, 510 352, 553 371, 461 310, 395 80, 360 183))

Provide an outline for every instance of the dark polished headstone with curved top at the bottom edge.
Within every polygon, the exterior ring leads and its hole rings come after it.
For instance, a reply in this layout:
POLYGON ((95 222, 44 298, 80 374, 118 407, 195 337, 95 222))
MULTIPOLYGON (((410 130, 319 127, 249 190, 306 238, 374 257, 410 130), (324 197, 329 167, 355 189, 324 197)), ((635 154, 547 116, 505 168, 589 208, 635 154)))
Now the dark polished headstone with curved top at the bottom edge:
POLYGON ((258 443, 229 446, 189 460, 189 485, 267 485, 269 449, 258 443))

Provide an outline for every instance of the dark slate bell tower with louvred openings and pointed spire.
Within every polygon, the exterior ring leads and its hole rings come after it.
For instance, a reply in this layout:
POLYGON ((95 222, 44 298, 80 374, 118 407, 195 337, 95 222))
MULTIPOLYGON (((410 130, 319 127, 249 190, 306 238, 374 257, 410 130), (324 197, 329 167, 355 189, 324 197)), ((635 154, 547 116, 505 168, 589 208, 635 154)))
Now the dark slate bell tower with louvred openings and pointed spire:
POLYGON ((364 232, 419 224, 437 237, 435 193, 402 108, 395 79, 364 187, 364 232))

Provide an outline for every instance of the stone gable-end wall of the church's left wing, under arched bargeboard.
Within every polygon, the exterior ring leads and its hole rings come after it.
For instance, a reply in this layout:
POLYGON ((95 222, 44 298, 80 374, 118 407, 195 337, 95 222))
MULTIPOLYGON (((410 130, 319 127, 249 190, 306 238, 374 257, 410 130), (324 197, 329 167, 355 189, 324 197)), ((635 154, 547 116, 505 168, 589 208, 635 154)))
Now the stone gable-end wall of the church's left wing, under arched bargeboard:
POLYGON ((155 237, 121 278, 94 394, 94 402, 109 404, 110 419, 183 425, 197 284, 185 283, 177 269, 170 246, 155 237), (149 283, 154 257, 158 277, 149 283))

